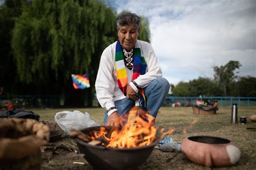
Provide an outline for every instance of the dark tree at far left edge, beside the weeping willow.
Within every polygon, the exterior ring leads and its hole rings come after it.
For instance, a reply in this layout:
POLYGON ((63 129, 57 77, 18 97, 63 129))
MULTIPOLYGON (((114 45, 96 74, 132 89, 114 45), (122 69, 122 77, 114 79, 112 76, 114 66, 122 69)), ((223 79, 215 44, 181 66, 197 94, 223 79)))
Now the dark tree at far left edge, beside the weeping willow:
POLYGON ((0 6, 0 87, 4 87, 5 95, 8 91, 15 93, 18 82, 16 61, 11 51, 11 31, 14 29, 15 18, 22 13, 23 3, 22 0, 5 0, 0 6))

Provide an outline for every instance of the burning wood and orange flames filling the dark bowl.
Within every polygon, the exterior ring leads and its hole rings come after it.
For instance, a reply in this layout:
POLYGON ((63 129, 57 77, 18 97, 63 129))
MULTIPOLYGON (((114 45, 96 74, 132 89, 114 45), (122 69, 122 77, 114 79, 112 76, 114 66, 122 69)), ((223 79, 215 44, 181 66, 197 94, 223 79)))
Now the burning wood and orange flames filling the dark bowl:
POLYGON ((101 126, 98 130, 90 131, 89 134, 72 130, 70 136, 78 137, 91 145, 112 148, 147 146, 156 140, 157 128, 153 124, 154 117, 133 108, 122 128, 114 128, 109 131, 106 127, 101 126))

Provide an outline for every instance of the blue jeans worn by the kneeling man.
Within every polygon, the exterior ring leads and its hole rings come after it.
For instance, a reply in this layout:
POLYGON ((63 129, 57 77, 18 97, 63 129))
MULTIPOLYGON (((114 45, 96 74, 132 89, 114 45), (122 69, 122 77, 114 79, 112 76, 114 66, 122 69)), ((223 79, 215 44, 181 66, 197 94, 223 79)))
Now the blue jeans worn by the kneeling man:
MULTIPOLYGON (((146 110, 151 116, 157 117, 158 110, 163 104, 169 88, 169 82, 163 77, 154 79, 147 87, 144 88, 146 110)), ((114 105, 116 105, 119 115, 124 116, 125 114, 129 114, 130 109, 135 105, 135 101, 124 98, 122 100, 115 101, 114 105)), ((106 122, 107 112, 105 112, 104 125, 106 125, 106 122)))

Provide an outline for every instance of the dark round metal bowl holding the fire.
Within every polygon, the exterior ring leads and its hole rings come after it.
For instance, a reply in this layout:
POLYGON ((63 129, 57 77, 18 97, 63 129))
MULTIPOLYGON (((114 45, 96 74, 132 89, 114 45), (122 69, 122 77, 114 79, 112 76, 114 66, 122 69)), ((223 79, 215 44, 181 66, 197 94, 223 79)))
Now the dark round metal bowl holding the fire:
MULTIPOLYGON (((105 127, 110 135, 114 126, 95 126, 81 130, 90 135, 91 131, 98 131, 100 127, 105 127)), ((104 146, 92 146, 78 138, 75 139, 79 151, 85 154, 85 159, 96 169, 134 169, 142 165, 150 156, 158 140, 152 144, 136 148, 105 148, 104 146)))

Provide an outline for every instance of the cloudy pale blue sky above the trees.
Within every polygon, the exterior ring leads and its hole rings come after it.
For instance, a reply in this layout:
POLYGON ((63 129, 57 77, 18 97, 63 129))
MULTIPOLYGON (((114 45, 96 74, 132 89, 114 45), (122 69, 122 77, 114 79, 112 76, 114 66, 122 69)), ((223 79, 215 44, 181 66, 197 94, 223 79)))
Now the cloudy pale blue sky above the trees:
POLYGON ((199 76, 213 78, 213 67, 230 60, 241 63, 238 76, 256 76, 255 0, 107 2, 118 13, 129 10, 149 19, 163 77, 174 85, 199 76))

